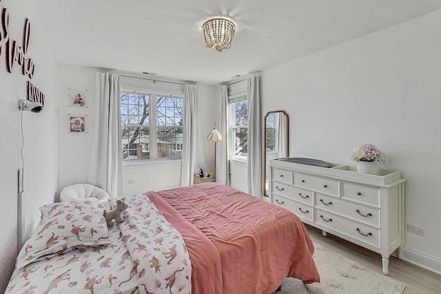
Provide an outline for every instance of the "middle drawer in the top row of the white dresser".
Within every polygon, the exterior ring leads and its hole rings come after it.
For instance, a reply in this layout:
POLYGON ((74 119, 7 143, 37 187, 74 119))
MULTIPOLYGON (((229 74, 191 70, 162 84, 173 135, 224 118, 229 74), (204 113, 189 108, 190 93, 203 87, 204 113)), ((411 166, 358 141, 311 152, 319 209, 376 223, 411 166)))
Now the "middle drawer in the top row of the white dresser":
POLYGON ((336 197, 339 196, 339 180, 331 180, 329 178, 294 173, 294 185, 336 197))

